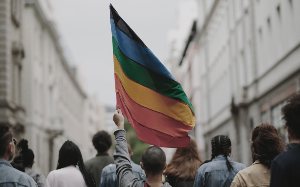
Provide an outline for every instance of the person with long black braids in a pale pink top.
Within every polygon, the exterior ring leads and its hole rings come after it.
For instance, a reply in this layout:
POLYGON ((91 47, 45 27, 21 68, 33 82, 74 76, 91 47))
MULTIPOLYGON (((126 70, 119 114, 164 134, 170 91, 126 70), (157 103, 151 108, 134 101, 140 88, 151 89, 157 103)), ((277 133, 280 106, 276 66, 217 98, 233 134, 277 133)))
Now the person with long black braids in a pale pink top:
POLYGON ((59 149, 56 170, 48 174, 45 184, 45 187, 64 186, 96 187, 93 175, 83 164, 79 147, 70 140, 65 141, 59 149))

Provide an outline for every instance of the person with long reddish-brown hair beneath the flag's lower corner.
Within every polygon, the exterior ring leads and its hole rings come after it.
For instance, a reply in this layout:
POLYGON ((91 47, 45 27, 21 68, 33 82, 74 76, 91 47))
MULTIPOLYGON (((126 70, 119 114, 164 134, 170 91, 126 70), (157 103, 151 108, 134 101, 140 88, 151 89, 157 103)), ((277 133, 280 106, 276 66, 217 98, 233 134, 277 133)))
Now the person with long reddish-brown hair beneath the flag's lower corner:
POLYGON ((166 169, 166 180, 172 187, 193 187, 202 161, 197 143, 190 137, 190 148, 177 148, 166 169))

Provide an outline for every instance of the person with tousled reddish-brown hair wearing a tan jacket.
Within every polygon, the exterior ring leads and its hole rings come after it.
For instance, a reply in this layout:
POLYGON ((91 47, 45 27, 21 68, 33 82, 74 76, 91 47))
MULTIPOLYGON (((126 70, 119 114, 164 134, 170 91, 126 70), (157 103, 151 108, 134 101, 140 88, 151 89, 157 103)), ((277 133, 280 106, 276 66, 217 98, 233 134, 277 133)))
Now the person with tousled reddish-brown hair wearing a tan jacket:
POLYGON ((239 171, 230 187, 269 186, 273 159, 285 150, 282 138, 273 125, 263 122, 252 131, 253 164, 239 171))

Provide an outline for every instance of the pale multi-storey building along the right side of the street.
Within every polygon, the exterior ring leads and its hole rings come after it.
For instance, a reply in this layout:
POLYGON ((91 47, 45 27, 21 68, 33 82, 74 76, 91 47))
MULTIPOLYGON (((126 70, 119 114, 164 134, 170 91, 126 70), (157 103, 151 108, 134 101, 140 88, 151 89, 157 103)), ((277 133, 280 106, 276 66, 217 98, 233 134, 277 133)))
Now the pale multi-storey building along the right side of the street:
POLYGON ((300 90, 300 1, 198 3, 196 33, 179 66, 180 83, 201 111, 196 136, 204 136, 209 159, 211 138, 228 135, 233 159, 249 166, 251 129, 267 121, 286 136, 280 109, 300 90))

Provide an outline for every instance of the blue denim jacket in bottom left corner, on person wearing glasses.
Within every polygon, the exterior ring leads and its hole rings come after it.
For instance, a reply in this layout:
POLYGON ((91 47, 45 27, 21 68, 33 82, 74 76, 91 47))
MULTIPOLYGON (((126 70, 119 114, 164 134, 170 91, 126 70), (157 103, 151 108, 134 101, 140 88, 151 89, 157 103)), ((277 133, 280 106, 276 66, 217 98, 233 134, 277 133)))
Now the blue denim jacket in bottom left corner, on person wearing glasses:
POLYGON ((29 175, 13 168, 4 159, 0 159, 0 173, 0 187, 38 187, 29 175))

